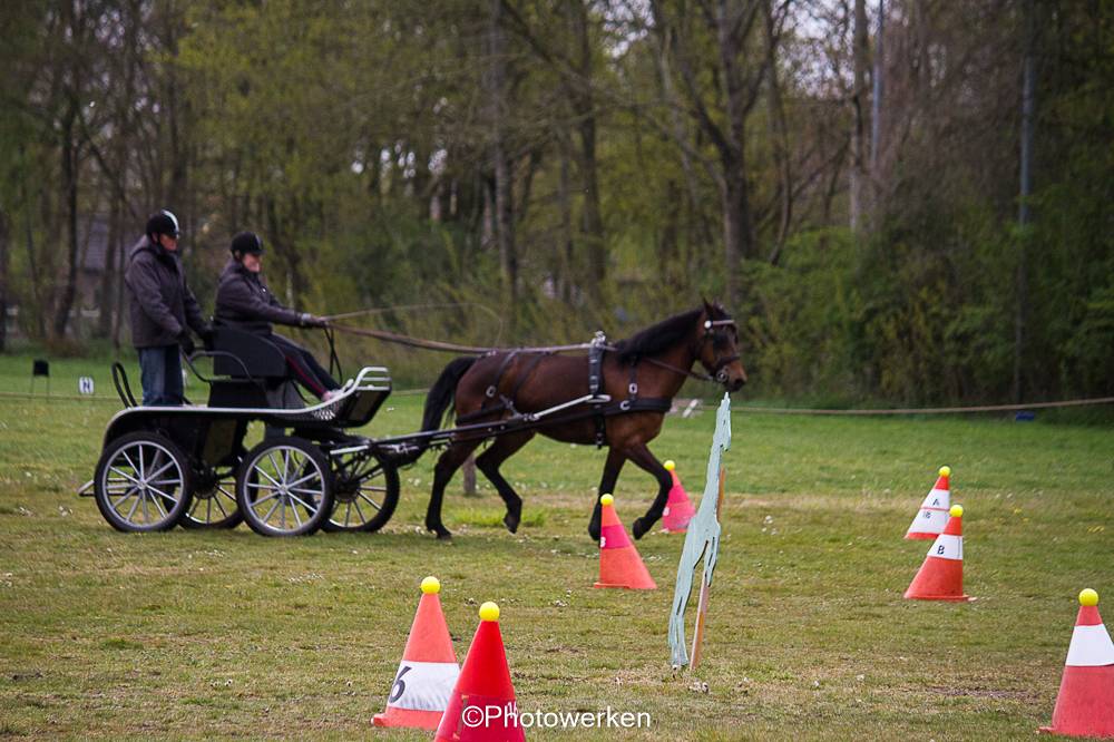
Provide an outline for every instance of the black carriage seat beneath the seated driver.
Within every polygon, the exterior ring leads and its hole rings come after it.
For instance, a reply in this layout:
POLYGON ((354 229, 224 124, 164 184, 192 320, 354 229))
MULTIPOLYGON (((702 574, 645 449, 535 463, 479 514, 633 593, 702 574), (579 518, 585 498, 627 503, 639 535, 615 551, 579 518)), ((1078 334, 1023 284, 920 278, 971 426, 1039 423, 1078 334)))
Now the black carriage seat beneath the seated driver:
POLYGON ((305 407, 278 346, 261 335, 228 325, 213 326, 209 407, 305 407))

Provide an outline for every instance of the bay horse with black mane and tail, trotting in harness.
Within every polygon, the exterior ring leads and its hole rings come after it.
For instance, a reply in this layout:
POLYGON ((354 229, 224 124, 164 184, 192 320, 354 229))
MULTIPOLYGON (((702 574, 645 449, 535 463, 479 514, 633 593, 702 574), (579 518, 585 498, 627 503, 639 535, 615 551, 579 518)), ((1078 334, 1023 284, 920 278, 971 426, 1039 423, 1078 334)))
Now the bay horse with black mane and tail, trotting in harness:
MULTIPOLYGON (((607 461, 596 491, 596 506, 588 535, 599 539, 599 498, 615 490, 619 470, 629 459, 657 480, 657 497, 646 515, 632 525, 635 538, 648 531, 662 517, 668 498, 670 472, 646 446, 662 430, 665 412, 687 377, 714 380, 729 392, 746 383, 740 361, 739 331, 720 304, 671 316, 631 338, 606 346, 599 359, 598 394, 613 401, 607 413, 583 402, 541 417, 528 429, 514 429, 494 437, 494 442, 476 458, 476 467, 495 486, 507 506, 504 524, 518 529, 522 500, 499 473, 499 467, 535 435, 566 443, 607 446, 607 461), (707 375, 696 374, 700 363, 707 375), (626 404, 626 407, 623 407, 626 404)), ((439 430, 446 411, 455 403, 458 424, 491 422, 515 414, 536 413, 589 393, 590 353, 557 355, 539 351, 497 352, 450 361, 426 398, 422 431, 439 430)), ((433 468, 433 488, 426 511, 426 528, 440 539, 452 534, 441 520, 444 488, 452 475, 488 436, 456 436, 433 468)), ((420 453, 420 452, 419 452, 420 453)))

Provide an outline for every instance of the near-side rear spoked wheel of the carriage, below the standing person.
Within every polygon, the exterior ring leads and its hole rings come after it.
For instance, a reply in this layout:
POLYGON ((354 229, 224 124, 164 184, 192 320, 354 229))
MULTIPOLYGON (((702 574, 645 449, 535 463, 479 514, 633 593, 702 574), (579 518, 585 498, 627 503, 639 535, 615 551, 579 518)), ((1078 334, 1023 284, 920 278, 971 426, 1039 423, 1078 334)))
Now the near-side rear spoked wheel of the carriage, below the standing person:
POLYGON ((173 528, 189 509, 193 470, 165 436, 134 432, 117 438, 97 462, 94 495, 100 515, 117 530, 173 528))

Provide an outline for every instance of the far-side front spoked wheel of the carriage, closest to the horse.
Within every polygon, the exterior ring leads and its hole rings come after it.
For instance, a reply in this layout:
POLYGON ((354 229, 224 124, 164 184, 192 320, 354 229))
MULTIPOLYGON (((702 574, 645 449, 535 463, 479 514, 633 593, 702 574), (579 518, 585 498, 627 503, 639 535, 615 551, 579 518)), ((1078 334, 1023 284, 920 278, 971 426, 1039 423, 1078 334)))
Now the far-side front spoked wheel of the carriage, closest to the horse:
POLYGON ((354 455, 333 472, 333 510, 322 528, 329 531, 374 531, 399 504, 399 470, 373 455, 354 455))

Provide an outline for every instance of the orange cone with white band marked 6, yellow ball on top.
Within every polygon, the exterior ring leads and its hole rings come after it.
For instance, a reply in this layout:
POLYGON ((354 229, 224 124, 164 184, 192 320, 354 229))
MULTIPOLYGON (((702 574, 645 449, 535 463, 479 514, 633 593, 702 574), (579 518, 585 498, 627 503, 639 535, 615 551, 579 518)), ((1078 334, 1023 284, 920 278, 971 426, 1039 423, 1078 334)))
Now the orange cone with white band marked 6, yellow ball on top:
POLYGON ((437 577, 421 580, 421 601, 410 638, 387 697, 387 711, 372 717, 375 726, 434 730, 441 721, 460 666, 441 612, 440 590, 437 577))

